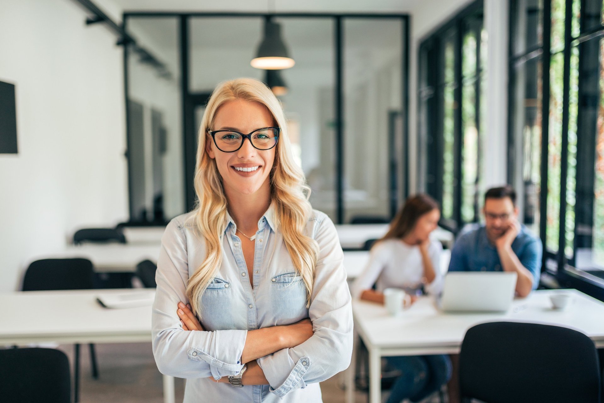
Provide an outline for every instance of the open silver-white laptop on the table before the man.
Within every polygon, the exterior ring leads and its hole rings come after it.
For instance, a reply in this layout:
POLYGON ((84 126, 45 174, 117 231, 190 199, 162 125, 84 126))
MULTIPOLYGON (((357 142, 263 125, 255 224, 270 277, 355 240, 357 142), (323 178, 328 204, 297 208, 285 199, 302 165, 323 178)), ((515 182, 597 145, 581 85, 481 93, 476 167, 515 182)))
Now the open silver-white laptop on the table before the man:
POLYGON ((439 308, 445 312, 507 311, 516 289, 516 272, 450 272, 439 308))

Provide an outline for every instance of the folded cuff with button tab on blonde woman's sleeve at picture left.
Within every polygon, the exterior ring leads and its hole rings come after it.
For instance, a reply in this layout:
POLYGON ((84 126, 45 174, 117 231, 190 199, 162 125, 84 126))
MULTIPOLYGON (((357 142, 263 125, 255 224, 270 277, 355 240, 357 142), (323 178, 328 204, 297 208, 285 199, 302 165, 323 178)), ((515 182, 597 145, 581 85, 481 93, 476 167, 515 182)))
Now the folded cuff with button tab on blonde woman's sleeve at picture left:
POLYGON ((214 379, 237 375, 242 368, 241 355, 245 346, 247 330, 216 330, 210 349, 191 347, 187 356, 193 361, 204 361, 210 365, 214 379))

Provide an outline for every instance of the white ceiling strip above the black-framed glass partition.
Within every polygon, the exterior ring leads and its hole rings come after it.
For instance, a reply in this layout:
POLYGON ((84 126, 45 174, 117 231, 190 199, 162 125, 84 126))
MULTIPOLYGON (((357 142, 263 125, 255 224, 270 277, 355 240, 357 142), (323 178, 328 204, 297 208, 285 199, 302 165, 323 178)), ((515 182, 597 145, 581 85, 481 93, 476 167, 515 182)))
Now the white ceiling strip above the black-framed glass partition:
POLYGON ((114 0, 124 11, 408 12, 425 0, 114 0))

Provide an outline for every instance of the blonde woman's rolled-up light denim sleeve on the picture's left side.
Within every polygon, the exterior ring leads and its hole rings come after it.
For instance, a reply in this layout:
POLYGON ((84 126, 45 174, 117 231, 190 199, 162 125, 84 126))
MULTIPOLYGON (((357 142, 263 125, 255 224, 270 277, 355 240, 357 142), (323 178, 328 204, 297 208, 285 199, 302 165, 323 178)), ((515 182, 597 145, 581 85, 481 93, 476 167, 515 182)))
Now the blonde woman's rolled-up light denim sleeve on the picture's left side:
POLYGON ((166 227, 161 243, 151 318, 153 356, 159 372, 179 378, 236 375, 243 367, 241 355, 248 331, 182 329, 176 309, 180 301, 188 302, 187 240, 176 219, 166 227))

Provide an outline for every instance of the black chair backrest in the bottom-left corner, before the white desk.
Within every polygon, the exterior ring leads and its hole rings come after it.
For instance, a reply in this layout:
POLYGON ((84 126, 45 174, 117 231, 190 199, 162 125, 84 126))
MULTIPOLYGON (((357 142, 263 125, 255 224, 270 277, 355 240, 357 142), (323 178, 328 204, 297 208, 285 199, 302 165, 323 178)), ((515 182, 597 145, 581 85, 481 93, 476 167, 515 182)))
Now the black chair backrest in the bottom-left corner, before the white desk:
POLYGON ((4 403, 69 403, 70 379, 69 361, 61 350, 0 350, 0 401, 4 403))

